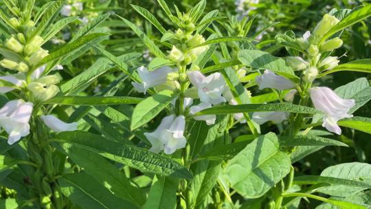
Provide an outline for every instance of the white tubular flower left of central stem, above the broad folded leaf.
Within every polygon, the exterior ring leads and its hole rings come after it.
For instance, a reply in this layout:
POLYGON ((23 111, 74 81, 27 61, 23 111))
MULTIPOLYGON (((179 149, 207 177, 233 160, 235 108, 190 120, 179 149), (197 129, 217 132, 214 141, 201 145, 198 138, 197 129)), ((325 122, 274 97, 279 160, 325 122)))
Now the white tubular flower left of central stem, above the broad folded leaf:
POLYGON ((131 84, 137 91, 146 94, 147 89, 166 83, 168 74, 176 72, 177 69, 166 66, 148 72, 148 69, 142 66, 139 67, 137 71, 139 77, 142 78, 143 83, 132 82, 131 84))

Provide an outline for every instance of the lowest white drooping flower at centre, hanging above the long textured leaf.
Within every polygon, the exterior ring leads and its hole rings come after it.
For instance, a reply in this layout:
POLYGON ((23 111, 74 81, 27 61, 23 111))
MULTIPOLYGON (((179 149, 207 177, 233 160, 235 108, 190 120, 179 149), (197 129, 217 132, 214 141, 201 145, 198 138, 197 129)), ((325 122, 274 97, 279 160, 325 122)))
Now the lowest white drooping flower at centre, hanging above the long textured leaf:
POLYGON ((186 128, 186 119, 183 115, 169 115, 162 119, 161 124, 152 133, 144 133, 152 147, 150 151, 159 153, 164 150, 164 153, 170 155, 177 149, 184 148, 187 140, 184 137, 184 129, 186 128))

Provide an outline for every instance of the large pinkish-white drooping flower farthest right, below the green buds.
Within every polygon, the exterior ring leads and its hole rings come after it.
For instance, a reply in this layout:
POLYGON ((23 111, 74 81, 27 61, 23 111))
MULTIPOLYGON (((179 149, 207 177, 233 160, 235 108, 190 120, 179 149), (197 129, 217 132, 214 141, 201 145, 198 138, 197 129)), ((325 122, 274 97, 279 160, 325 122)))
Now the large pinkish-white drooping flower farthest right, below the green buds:
POLYGON ((328 131, 341 134, 337 121, 343 118, 352 118, 348 111, 355 106, 355 100, 341 99, 328 87, 313 87, 309 89, 315 109, 324 113, 324 126, 328 131))

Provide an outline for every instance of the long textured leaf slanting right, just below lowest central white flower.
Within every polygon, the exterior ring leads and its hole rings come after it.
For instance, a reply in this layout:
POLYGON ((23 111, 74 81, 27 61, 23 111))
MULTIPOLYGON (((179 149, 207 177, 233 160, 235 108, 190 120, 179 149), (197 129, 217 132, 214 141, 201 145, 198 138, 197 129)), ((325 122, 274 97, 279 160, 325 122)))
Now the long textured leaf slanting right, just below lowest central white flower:
POLYGON ((192 178, 190 172, 173 159, 137 146, 106 140, 100 135, 84 131, 62 132, 56 135, 55 141, 85 148, 143 172, 186 179, 192 178))

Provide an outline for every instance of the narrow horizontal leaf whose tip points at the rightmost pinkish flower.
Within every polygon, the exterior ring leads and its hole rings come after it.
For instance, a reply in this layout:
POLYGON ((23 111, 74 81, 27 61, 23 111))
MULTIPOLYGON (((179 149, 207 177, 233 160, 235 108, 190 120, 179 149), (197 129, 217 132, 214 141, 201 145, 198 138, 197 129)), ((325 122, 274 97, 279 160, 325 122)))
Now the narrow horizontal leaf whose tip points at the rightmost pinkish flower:
POLYGON ((314 108, 304 107, 295 104, 282 103, 282 104, 238 104, 238 105, 221 105, 218 107, 211 107, 199 111, 195 115, 220 115, 229 113, 246 113, 246 112, 261 112, 261 111, 284 111, 290 113, 319 113, 314 108))

